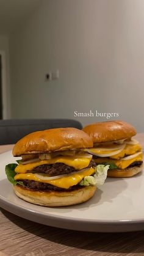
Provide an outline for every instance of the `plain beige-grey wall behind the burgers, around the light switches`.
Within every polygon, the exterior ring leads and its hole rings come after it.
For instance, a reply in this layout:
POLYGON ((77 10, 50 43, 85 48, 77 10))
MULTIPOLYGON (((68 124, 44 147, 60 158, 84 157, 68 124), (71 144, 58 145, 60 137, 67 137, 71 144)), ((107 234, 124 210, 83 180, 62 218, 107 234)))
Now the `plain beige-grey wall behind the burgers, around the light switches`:
POLYGON ((97 109, 144 131, 143 10, 143 0, 43 1, 10 38, 12 117, 74 118, 75 110, 97 109), (45 82, 55 68, 59 80, 45 82))

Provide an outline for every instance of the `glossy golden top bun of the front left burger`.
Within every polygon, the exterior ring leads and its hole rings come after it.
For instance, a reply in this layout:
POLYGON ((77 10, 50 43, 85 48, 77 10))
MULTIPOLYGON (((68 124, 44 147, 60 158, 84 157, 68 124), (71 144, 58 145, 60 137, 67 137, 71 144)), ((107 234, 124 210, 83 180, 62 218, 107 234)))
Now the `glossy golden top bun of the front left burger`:
POLYGON ((27 134, 13 147, 13 156, 87 147, 93 147, 93 141, 84 131, 76 128, 54 128, 27 134))

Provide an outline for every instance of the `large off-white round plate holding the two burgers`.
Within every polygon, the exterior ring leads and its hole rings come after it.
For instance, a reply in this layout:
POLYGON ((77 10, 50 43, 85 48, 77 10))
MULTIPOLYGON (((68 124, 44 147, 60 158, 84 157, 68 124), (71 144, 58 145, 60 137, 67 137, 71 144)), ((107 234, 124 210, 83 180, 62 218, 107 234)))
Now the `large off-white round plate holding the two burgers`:
POLYGON ((71 207, 48 208, 15 196, 5 176, 12 152, 0 155, 0 206, 22 218, 45 225, 91 232, 144 230, 144 172, 133 178, 107 178, 92 199, 71 207))

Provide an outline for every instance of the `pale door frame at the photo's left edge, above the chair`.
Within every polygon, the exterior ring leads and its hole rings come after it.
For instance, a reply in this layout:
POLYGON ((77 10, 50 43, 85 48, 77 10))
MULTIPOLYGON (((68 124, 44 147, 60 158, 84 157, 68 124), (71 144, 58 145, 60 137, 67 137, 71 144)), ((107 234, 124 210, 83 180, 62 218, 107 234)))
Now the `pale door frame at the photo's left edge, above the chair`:
POLYGON ((9 77, 9 37, 0 35, 0 54, 2 55, 2 104, 3 119, 10 118, 10 77, 9 77))

